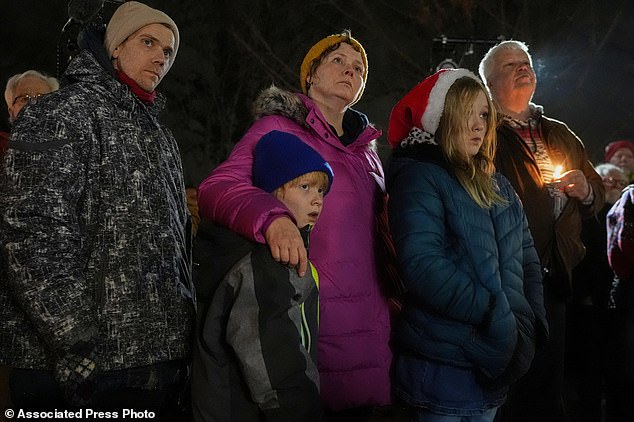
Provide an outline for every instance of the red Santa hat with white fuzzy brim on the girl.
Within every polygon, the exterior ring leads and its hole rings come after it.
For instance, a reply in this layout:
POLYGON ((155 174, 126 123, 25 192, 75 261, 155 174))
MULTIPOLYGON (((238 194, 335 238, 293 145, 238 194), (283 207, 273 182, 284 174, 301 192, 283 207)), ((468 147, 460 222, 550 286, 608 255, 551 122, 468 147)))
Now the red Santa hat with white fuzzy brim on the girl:
POLYGON ((440 117, 445 108, 447 91, 456 80, 469 77, 480 79, 467 69, 442 69, 427 77, 392 108, 387 128, 387 140, 396 148, 401 141, 410 136, 417 142, 434 142, 440 117))

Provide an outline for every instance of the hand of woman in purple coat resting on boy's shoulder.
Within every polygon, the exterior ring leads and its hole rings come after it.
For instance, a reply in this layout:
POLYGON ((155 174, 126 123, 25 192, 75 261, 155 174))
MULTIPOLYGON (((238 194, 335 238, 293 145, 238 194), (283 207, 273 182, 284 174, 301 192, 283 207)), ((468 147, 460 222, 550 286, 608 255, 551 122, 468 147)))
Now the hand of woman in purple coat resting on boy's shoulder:
POLYGON ((264 237, 273 259, 289 267, 297 267, 300 277, 306 274, 308 255, 299 229, 290 218, 280 217, 273 220, 264 237))

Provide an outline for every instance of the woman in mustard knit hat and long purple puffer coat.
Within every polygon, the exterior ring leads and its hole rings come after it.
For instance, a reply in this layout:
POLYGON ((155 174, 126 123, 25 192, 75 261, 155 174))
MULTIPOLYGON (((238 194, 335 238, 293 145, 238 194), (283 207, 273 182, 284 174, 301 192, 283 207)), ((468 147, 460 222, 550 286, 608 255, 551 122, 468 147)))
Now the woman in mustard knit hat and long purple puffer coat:
POLYGON ((306 249, 289 210, 253 186, 253 149, 272 130, 317 150, 336 175, 311 235, 319 271, 321 397, 329 420, 367 420, 390 403, 390 320, 377 264, 377 216, 384 176, 374 148, 381 132, 351 108, 368 75, 361 44, 349 32, 328 36, 306 54, 303 93, 275 87, 255 103, 256 121, 229 158, 199 186, 201 216, 267 243, 276 260, 306 271, 306 249))

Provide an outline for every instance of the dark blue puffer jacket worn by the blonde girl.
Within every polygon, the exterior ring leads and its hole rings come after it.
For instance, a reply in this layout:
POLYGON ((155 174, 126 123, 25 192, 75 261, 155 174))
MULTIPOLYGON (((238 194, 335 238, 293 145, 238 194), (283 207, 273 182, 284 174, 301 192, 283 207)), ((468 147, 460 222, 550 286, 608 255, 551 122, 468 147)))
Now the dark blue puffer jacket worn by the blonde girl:
POLYGON ((537 333, 546 331, 539 261, 509 182, 494 176, 507 203, 483 209, 439 148, 429 148, 422 160, 395 157, 388 172, 390 224, 408 289, 397 352, 417 358, 409 365, 472 371, 478 385, 498 392, 487 400, 500 400, 528 370, 537 333))

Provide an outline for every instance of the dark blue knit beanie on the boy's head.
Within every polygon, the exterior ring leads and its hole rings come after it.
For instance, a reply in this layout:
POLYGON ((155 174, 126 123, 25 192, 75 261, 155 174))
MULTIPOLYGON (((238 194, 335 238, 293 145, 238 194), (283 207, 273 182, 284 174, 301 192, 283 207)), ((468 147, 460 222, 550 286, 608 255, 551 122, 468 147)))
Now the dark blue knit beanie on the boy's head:
POLYGON ((330 164, 293 134, 269 132, 260 138, 253 154, 253 184, 262 190, 273 192, 286 182, 313 171, 328 176, 325 193, 332 186, 334 173, 330 164))

